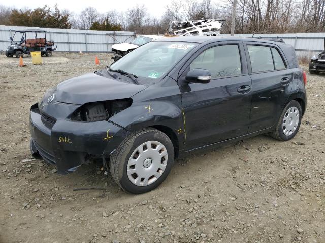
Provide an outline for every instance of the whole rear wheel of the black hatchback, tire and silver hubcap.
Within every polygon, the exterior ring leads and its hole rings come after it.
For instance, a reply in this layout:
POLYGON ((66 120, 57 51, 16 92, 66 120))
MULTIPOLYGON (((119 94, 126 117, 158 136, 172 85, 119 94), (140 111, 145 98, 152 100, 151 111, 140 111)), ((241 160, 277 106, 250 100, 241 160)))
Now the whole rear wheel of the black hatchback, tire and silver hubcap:
POLYGON ((271 136, 280 141, 288 141, 295 137, 301 124, 301 105, 296 100, 283 109, 280 119, 271 133, 271 136))

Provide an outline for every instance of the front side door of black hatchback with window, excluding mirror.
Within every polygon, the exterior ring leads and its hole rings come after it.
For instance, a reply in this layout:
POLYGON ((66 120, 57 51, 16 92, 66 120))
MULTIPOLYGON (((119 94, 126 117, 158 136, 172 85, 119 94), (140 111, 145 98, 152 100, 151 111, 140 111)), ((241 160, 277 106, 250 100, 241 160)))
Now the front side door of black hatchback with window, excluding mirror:
POLYGON ((191 150, 245 135, 251 108, 251 78, 241 42, 218 42, 199 50, 182 73, 208 69, 208 84, 180 85, 185 149, 191 150))

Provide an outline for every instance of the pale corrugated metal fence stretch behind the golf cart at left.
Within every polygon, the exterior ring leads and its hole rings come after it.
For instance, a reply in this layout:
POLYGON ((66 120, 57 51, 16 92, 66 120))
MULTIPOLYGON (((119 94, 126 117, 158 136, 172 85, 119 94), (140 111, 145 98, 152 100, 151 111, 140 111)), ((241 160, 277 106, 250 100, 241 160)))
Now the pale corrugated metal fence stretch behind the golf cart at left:
POLYGON ((48 31, 47 39, 52 39, 61 52, 109 52, 113 44, 131 42, 135 32, 95 31, 79 29, 51 29, 23 26, 0 25, 0 50, 5 51, 10 44, 9 38, 16 30, 43 29, 48 31))

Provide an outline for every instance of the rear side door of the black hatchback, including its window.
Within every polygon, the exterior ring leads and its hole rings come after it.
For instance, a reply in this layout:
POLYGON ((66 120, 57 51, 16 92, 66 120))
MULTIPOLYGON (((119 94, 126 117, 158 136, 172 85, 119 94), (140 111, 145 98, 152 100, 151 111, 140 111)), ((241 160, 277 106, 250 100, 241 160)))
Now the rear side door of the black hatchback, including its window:
POLYGON ((293 71, 273 44, 244 42, 252 79, 252 108, 248 133, 272 127, 290 95, 293 71))

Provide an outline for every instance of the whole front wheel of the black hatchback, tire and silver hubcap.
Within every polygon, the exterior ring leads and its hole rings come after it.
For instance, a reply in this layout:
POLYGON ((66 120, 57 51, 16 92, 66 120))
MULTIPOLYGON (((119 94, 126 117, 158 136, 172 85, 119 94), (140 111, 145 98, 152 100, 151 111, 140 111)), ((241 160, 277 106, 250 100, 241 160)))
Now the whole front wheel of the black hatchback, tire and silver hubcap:
POLYGON ((125 191, 153 190, 168 176, 174 163, 174 146, 163 132, 142 129, 128 136, 110 158, 115 182, 125 191))

